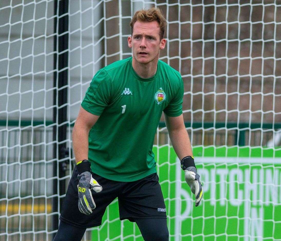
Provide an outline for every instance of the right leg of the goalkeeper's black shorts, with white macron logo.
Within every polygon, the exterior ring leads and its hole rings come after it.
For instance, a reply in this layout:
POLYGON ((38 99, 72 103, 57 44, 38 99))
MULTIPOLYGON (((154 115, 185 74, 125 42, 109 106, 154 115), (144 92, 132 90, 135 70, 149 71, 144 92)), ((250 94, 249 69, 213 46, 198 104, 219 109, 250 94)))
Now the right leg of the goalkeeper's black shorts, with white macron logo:
POLYGON ((167 219, 166 206, 157 173, 122 185, 118 195, 120 220, 167 219))

